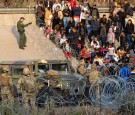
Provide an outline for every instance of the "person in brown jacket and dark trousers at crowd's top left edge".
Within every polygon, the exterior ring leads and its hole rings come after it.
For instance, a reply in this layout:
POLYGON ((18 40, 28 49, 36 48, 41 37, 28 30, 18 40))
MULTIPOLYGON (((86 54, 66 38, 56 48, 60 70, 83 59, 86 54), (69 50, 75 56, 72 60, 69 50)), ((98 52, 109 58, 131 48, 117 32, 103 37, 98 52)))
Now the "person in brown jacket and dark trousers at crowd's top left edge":
POLYGON ((37 14, 38 14, 38 17, 39 17, 40 30, 43 30, 44 14, 45 14, 45 9, 43 7, 43 2, 39 3, 39 5, 37 7, 37 14))

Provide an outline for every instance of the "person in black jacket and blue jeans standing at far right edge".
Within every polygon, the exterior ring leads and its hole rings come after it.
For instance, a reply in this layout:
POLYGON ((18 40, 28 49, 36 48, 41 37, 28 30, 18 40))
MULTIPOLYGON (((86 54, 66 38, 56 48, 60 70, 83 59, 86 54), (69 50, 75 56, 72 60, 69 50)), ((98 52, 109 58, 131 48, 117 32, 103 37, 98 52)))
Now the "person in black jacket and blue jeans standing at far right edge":
POLYGON ((131 48, 132 46, 132 33, 134 32, 134 24, 132 23, 132 20, 128 20, 126 24, 126 35, 127 35, 127 42, 128 42, 128 47, 131 48))

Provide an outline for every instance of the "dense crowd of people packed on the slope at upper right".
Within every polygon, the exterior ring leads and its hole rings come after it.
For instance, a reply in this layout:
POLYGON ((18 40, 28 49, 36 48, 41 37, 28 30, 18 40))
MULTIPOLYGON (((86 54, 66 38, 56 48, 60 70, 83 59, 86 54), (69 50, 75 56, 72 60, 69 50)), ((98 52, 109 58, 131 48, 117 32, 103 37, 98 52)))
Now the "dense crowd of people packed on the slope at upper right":
POLYGON ((63 49, 67 58, 79 57, 87 63, 134 62, 134 8, 114 0, 109 16, 100 15, 96 6, 78 0, 39 0, 39 23, 45 36, 63 49), (75 53, 73 55, 73 52, 75 53))

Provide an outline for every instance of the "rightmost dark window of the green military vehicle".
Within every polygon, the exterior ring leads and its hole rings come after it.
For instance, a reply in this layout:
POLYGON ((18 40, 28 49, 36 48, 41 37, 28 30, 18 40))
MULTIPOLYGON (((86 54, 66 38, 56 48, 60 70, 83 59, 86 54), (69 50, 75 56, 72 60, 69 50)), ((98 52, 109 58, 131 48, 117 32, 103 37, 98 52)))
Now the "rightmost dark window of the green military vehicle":
POLYGON ((69 71, 68 64, 52 64, 52 69, 57 71, 69 71))

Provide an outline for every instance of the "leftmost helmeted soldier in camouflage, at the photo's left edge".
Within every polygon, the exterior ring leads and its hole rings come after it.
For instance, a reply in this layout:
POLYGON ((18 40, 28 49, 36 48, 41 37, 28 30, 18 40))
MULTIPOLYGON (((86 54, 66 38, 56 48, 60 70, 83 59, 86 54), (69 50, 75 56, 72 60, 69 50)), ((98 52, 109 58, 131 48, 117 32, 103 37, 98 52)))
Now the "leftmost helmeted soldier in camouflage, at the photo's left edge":
POLYGON ((13 82, 12 77, 9 75, 9 68, 4 67, 0 76, 0 87, 2 103, 13 101, 13 82))

